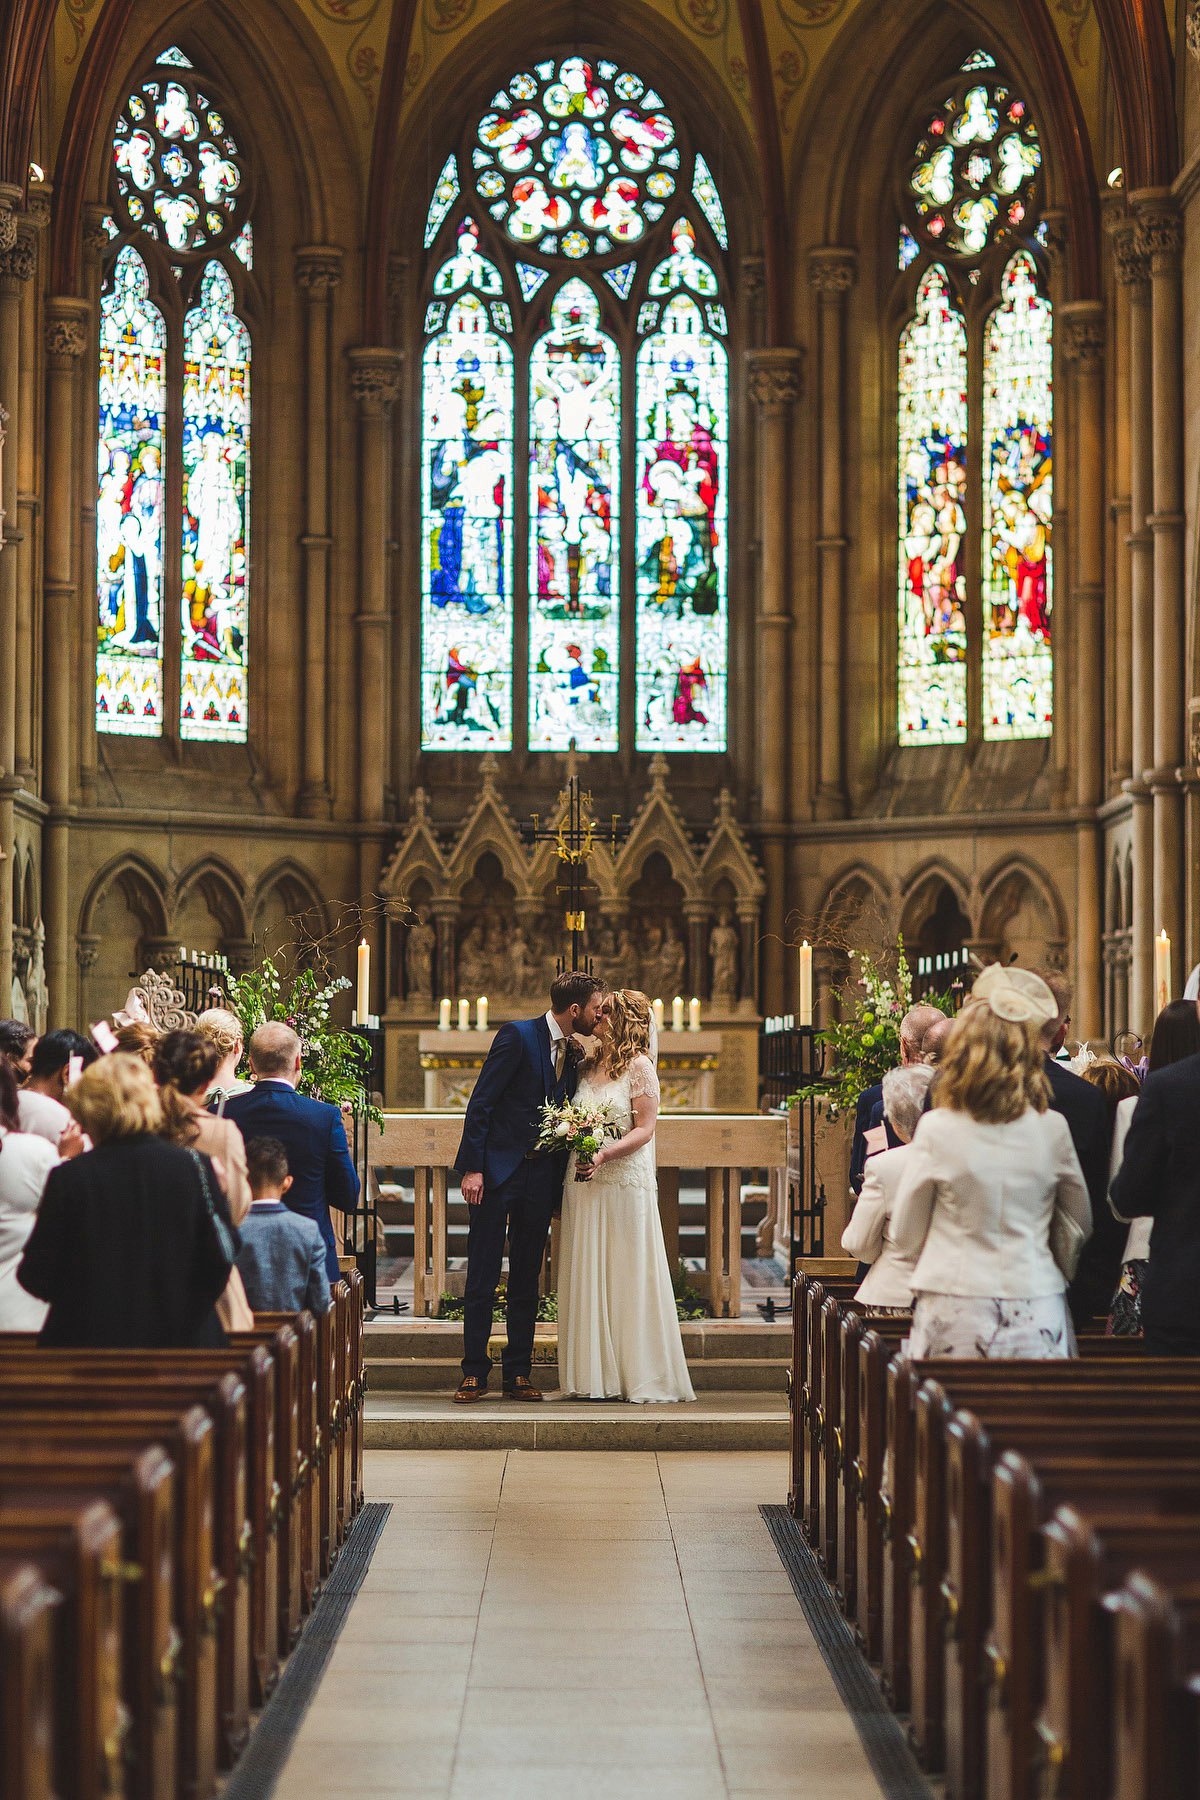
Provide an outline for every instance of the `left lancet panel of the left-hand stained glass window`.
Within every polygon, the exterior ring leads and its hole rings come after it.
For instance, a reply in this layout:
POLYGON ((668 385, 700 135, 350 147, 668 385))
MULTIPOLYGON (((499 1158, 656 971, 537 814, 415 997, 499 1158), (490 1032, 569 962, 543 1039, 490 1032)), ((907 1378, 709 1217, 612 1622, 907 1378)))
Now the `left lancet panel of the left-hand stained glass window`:
POLYGON ((95 729, 162 734, 162 427, 167 328, 124 248, 101 295, 95 729))

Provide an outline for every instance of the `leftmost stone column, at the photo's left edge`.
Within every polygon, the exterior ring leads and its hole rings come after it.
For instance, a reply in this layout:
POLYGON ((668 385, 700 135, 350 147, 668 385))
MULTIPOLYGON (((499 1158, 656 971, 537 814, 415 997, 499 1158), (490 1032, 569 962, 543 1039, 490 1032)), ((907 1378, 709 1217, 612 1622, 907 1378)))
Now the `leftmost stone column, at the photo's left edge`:
POLYGON ((16 473, 20 463, 20 365, 22 288, 36 266, 29 223, 16 230, 11 248, 0 252, 0 441, 4 443, 4 549, 0 549, 0 1006, 9 1012, 13 994, 13 853, 16 839, 16 562, 20 520, 16 473))

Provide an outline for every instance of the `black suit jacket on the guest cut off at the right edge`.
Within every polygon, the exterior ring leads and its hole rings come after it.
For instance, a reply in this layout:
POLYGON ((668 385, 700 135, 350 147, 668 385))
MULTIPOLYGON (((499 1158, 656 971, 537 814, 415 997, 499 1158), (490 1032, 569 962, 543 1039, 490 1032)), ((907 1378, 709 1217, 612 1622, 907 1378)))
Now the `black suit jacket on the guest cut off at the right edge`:
POLYGON ((1112 1184, 1123 1219, 1153 1219, 1142 1327, 1200 1350, 1200 1057, 1142 1082, 1112 1184))

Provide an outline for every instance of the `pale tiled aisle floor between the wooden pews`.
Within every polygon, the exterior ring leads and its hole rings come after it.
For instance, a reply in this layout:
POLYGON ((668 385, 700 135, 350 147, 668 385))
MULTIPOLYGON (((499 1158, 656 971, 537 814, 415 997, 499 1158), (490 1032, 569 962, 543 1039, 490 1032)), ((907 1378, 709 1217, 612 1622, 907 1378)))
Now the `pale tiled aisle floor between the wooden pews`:
POLYGON ((759 1501, 784 1458, 367 1453, 392 1514, 275 1800, 878 1800, 759 1501))

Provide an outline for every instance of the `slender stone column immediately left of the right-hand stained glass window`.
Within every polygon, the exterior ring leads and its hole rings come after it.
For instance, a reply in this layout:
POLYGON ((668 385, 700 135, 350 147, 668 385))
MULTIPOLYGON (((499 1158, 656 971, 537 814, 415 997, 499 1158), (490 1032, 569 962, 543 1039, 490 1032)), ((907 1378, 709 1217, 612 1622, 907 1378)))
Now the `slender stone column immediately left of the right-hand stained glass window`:
MULTIPOLYGON (((817 817, 840 819, 846 812, 842 779, 842 680, 846 644, 846 536, 842 401, 846 387, 846 295, 858 274, 855 250, 813 250, 808 283, 819 297, 819 441, 820 513, 817 535, 817 817)), ((786 1012, 786 1008, 784 1008, 786 1012)))

